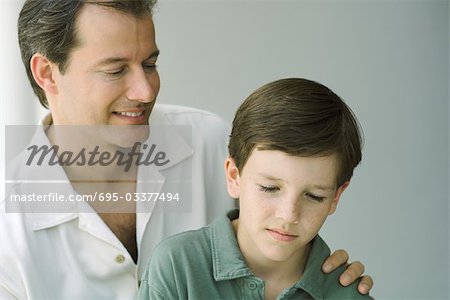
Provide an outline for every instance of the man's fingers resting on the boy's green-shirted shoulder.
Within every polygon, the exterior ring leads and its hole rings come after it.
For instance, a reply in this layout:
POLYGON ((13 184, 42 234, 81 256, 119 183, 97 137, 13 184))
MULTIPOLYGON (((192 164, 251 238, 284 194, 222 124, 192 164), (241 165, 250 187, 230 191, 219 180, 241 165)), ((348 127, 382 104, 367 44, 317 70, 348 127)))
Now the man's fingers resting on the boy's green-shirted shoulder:
MULTIPOLYGON (((336 250, 330 257, 328 257, 322 265, 322 270, 325 273, 330 273, 335 270, 339 266, 343 264, 347 264, 348 254, 345 250, 336 250)), ((343 286, 347 286, 355 280, 359 279, 359 277, 364 273, 364 265, 359 262, 352 262, 350 265, 347 265, 347 270, 339 277, 339 282, 343 286)), ((361 278, 361 281, 358 284, 358 291, 361 294, 367 294, 373 286, 373 280, 370 276, 364 275, 361 278)))

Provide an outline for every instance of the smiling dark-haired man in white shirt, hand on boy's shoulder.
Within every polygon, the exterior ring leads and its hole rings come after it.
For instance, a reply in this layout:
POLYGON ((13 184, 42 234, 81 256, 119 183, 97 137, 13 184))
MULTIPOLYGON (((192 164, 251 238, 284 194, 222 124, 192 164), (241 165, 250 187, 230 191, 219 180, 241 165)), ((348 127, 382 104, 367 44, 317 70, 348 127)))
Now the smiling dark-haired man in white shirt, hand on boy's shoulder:
MULTIPOLYGON (((0 203, 0 298, 132 299, 163 237, 203 226, 232 207, 225 179, 217 175, 226 155, 227 126, 204 111, 154 106, 159 91, 155 2, 25 2, 18 21, 22 59, 35 94, 50 109, 31 144, 56 145, 64 150, 56 150, 58 159, 75 153, 77 160, 51 164, 44 155, 45 168, 28 169, 20 160, 14 175, 7 168, 11 184, 0 203), (111 133, 117 128, 124 130, 111 133), (145 143, 148 135, 158 141, 153 145, 166 145, 158 153, 167 157, 152 160, 161 163, 158 167, 138 168, 144 144, 147 152, 153 149, 145 143), (86 148, 95 142, 101 150, 86 148), (81 155, 87 153, 92 160, 81 155), (129 156, 133 163, 125 171, 120 163, 99 167, 111 153, 129 156), (53 181, 45 183, 50 177, 53 181), (81 204, 82 210, 72 210, 38 202, 31 211, 17 210, 26 213, 8 213, 15 211, 8 196, 30 195, 28 182, 36 183, 34 194, 38 189, 47 196, 58 190, 73 198, 101 197, 88 205, 91 212, 81 204), (151 193, 158 201, 147 197, 151 193), (151 201, 140 201, 140 195, 151 201), (169 195, 177 195, 175 204, 166 202, 169 195), (98 201, 105 198, 120 200, 111 209, 112 202, 98 201)), ((25 152, 25 161, 34 163, 39 154, 33 155, 25 152)), ((337 252, 328 261, 330 269, 346 259, 345 252, 337 252)), ((351 266, 346 283, 362 269, 359 263, 351 266)), ((360 287, 368 291, 371 286, 370 277, 363 278, 360 287)))

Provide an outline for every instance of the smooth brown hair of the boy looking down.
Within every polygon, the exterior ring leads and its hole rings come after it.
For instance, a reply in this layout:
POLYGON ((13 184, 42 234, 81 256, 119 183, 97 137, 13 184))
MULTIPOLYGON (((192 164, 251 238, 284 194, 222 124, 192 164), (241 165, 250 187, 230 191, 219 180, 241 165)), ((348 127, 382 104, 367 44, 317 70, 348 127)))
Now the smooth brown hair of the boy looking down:
POLYGON ((339 187, 361 161, 362 134, 352 110, 326 86, 287 78, 260 87, 236 112, 228 151, 240 172, 255 147, 302 157, 334 154, 339 187))

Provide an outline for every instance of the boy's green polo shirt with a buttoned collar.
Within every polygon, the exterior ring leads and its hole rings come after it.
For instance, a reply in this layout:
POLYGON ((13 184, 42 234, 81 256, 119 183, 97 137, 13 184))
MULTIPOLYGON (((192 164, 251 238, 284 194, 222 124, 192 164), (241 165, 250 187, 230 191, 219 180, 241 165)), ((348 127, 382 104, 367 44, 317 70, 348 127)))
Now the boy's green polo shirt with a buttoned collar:
MULTIPOLYGON (((207 227, 163 240, 154 250, 142 277, 139 299, 264 299, 264 281, 253 275, 239 250, 230 211, 207 227)), ((330 255, 316 236, 302 278, 278 299, 371 299, 339 284, 342 266, 331 274, 321 271, 330 255)))

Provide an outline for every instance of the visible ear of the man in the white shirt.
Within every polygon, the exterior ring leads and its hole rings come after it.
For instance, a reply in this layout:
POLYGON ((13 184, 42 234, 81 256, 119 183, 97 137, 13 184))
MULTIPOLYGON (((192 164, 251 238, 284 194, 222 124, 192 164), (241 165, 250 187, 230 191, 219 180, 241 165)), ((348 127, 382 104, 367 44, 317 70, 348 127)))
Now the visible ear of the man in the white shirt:
POLYGON ((55 72, 59 72, 58 66, 46 56, 35 53, 31 57, 30 68, 34 80, 46 94, 54 95, 58 93, 58 86, 55 81, 55 72))

